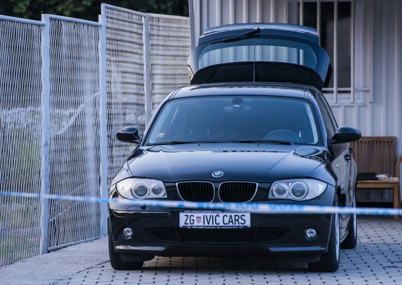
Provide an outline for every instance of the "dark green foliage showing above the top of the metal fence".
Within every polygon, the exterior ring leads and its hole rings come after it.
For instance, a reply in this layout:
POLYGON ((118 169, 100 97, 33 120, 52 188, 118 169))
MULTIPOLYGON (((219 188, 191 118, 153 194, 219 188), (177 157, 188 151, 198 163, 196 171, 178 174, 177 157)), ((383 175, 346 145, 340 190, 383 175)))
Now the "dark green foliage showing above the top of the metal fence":
POLYGON ((188 16, 188 0, 0 0, 0 15, 40 20, 54 14, 97 22, 100 4, 139 12, 188 16))

